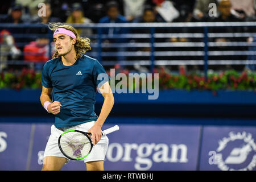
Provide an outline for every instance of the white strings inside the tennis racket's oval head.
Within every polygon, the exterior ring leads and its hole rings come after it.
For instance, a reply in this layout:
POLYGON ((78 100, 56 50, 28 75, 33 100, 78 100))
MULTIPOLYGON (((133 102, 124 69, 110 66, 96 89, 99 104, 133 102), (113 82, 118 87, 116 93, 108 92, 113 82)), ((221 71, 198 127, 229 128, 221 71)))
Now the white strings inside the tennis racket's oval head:
POLYGON ((63 152, 71 158, 79 159, 90 151, 89 139, 81 133, 68 132, 62 135, 60 146, 63 152))

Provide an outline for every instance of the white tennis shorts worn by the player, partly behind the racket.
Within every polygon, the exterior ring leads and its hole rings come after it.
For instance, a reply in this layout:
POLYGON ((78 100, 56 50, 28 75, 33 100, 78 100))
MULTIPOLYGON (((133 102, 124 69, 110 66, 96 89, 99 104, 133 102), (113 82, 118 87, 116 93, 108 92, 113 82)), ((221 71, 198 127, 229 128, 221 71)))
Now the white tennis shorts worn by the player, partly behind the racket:
MULTIPOLYGON (((54 125, 51 126, 51 135, 49 137, 49 140, 46 144, 46 149, 44 150, 44 158, 46 156, 57 156, 57 157, 65 157, 58 146, 58 139, 61 134, 63 134, 64 131, 68 130, 80 130, 87 132, 93 125, 95 121, 82 123, 80 125, 72 126, 72 127, 62 127, 62 128, 56 128, 54 125)), ((93 146, 92 151, 90 154, 82 159, 84 160, 84 163, 91 162, 91 161, 98 161, 98 160, 104 160, 106 151, 108 150, 109 146, 109 139, 106 135, 102 135, 100 141, 93 146)), ((69 159, 67 160, 66 164, 69 162, 69 159)))

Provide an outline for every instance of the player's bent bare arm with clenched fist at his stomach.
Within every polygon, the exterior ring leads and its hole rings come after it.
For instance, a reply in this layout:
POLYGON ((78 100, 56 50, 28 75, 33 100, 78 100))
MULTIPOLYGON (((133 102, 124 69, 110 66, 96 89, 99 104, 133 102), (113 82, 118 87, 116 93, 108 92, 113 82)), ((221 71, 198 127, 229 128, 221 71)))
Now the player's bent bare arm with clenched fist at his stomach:
MULTIPOLYGON (((41 104, 44 106, 45 102, 52 102, 52 88, 46 88, 43 86, 42 93, 40 96, 41 104)), ((59 101, 54 101, 47 106, 47 109, 52 114, 60 113, 61 104, 59 101)))

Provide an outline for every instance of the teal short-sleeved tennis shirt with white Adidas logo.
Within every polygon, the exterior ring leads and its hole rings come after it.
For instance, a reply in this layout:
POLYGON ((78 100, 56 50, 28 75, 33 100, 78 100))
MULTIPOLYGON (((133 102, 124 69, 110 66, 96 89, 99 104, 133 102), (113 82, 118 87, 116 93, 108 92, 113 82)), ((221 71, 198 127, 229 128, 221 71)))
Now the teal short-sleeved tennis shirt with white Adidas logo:
POLYGON ((53 88, 55 101, 62 105, 60 113, 55 115, 56 127, 97 120, 98 116, 94 113, 97 86, 108 81, 105 78, 98 80, 100 73, 107 74, 96 59, 86 55, 71 66, 63 65, 60 57, 44 64, 42 85, 53 88))

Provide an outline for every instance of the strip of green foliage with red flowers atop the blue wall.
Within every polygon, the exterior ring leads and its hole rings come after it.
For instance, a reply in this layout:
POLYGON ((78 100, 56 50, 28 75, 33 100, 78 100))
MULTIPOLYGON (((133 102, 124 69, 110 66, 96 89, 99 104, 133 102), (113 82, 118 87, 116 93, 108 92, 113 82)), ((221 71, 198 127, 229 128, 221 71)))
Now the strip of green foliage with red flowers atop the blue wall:
MULTIPOLYGON (((129 72, 125 72, 127 81, 129 80, 129 72)), ((190 73, 184 71, 179 74, 167 72, 163 67, 154 69, 154 73, 159 73, 159 89, 183 89, 183 90, 255 90, 256 92, 256 73, 251 71, 243 71, 242 73, 229 70, 223 72, 208 73, 205 80, 203 74, 190 73)), ((32 69, 22 69, 22 71, 2 72, 0 73, 0 89, 38 89, 42 88, 41 72, 35 72, 32 69)), ((115 85, 118 84, 115 81, 115 85)), ((154 82, 154 77, 147 84, 154 82)), ((127 88, 135 89, 141 86, 135 82, 129 84, 127 88)))

